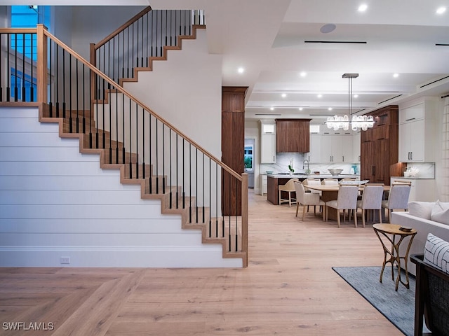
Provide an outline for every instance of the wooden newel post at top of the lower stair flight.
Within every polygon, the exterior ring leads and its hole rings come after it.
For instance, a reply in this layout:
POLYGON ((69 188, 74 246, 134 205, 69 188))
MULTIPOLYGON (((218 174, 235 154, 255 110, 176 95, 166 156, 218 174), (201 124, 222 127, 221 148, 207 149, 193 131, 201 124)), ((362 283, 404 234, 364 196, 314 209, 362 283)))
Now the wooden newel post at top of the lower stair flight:
POLYGON ((37 102, 47 103, 47 41, 46 27, 37 25, 37 102))

